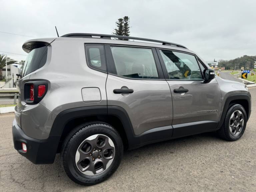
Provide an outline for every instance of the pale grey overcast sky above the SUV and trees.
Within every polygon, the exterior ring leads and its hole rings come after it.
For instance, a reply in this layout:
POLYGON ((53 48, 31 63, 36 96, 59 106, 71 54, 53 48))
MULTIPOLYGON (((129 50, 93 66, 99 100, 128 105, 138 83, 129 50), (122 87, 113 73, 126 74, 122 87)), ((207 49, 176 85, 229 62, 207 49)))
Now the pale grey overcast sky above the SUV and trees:
MULTIPOLYGON (((0 0, 0 51, 24 54, 28 39, 67 33, 111 34, 130 17, 130 36, 185 45, 204 60, 256 55, 256 1, 251 0, 0 0)), ((2 53, 2 52, 0 52, 2 53)), ((26 56, 8 54, 15 60, 26 56)))

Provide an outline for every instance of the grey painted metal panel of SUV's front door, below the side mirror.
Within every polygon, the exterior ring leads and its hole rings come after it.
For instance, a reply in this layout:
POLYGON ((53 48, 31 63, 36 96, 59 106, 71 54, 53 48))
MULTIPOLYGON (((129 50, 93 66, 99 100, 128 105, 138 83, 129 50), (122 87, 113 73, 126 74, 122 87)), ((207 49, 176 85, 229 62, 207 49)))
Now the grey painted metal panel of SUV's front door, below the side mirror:
POLYGON ((170 85, 173 100, 172 124, 197 121, 219 121, 222 101, 216 79, 209 83, 202 81, 167 81, 170 85), (174 89, 183 87, 186 93, 174 93, 174 89), (208 112, 210 110, 217 110, 208 112))

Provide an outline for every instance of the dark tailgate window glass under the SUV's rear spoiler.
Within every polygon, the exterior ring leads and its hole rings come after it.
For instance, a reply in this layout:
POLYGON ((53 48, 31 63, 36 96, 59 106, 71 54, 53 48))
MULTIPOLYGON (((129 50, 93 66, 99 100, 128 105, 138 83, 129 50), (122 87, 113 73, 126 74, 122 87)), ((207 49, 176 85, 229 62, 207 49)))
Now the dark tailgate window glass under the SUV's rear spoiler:
POLYGON ((41 68, 46 63, 47 59, 47 46, 33 49, 29 52, 23 70, 22 77, 41 68))

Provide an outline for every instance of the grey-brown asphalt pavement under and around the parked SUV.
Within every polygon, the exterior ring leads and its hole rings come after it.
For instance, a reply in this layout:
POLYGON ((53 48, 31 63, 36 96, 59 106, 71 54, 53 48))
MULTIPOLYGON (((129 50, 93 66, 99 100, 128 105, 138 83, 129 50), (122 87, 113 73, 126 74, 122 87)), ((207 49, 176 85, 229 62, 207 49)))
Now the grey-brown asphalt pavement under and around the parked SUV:
POLYGON ((256 191, 256 87, 252 114, 236 142, 204 133, 126 151, 120 167, 94 186, 73 183, 57 155, 54 164, 34 165, 13 148, 14 114, 0 115, 0 191, 256 191))

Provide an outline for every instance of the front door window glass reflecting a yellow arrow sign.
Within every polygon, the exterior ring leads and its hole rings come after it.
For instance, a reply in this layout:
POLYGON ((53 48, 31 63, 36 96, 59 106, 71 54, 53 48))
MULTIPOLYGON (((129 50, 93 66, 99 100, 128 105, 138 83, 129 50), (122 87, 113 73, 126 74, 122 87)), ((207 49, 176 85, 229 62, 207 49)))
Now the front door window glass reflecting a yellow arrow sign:
POLYGON ((202 73, 194 55, 160 50, 169 79, 201 80, 202 73))

